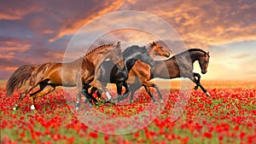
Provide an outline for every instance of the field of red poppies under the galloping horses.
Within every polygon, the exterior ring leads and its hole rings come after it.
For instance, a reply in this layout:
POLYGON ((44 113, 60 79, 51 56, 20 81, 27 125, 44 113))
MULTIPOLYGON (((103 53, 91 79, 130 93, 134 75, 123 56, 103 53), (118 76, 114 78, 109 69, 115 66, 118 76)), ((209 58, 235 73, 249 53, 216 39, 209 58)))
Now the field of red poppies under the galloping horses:
MULTIPOLYGON (((151 124, 131 134, 108 135, 80 122, 71 110, 73 107, 67 105, 66 92, 61 89, 38 98, 37 111, 30 110, 28 96, 19 109, 13 111, 20 91, 7 97, 2 83, 1 143, 254 143, 256 83, 202 81, 202 84, 212 97, 206 97, 201 89, 193 89, 177 119, 172 120, 171 116, 178 101, 178 84, 171 84, 171 90, 161 89, 166 105, 151 124)), ((110 92, 114 95, 113 90, 110 92)), ((130 117, 141 112, 150 101, 150 96, 143 91, 132 104, 102 104, 96 110, 109 116, 130 117)), ((82 105, 89 107, 88 103, 82 105)))

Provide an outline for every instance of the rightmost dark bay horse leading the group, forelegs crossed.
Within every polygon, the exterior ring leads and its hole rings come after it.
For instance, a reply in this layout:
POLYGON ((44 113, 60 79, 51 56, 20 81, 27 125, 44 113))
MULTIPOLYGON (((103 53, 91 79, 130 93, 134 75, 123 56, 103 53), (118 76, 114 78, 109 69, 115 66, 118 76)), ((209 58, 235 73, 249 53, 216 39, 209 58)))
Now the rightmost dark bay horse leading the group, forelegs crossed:
MULTIPOLYGON (((207 89, 205 89, 201 83, 201 75, 199 73, 193 72, 193 64, 196 60, 199 61, 199 65, 201 67, 201 73, 205 74, 207 73, 207 66, 209 64, 209 52, 205 52, 202 49, 189 49, 188 51, 184 51, 180 54, 174 55, 168 60, 155 60, 154 66, 151 69, 151 78, 166 78, 166 79, 172 79, 172 78, 189 78, 191 79, 196 85, 195 89, 198 88, 198 86, 203 90, 204 93, 206 93, 207 96, 211 96, 207 89), (187 54, 189 52, 189 55, 187 54), (166 68, 167 71, 166 72, 166 68)), ((140 68, 140 67, 137 67, 140 68)), ((131 84, 132 87, 135 84, 131 84)), ((135 87, 137 88, 137 87, 135 87)), ((138 88, 139 89, 139 88, 138 88)), ((150 89, 148 87, 145 87, 147 89, 148 94, 150 95, 150 89)), ((133 101, 133 95, 134 92, 137 89, 131 89, 131 98, 130 101, 133 101)))

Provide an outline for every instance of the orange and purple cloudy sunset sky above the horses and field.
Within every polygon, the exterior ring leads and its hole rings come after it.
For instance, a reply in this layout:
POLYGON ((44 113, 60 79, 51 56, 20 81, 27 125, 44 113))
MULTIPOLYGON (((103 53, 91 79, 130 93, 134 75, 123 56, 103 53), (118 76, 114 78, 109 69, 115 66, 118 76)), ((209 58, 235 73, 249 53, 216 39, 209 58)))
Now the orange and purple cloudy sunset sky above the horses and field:
MULTIPOLYGON (((255 80, 256 78, 256 1, 254 0, 87 0, 87 1, 9 1, 0 4, 0 79, 8 79, 19 66, 62 62, 70 41, 81 27, 104 14, 136 10, 154 14, 172 26, 184 47, 210 52, 208 72, 203 79, 255 80)), ((140 18, 137 18, 140 21, 140 18)), ((84 32, 80 46, 89 47, 91 37, 109 26, 119 27, 131 21, 131 15, 94 23, 84 32), (87 35, 88 36, 88 35, 87 35)), ((158 22, 157 19, 151 20, 158 22)), ((158 33, 164 24, 150 25, 158 33)), ((149 29, 148 29, 149 30, 149 29)), ((171 35, 171 34, 170 34, 171 35)), ((168 37, 168 36, 166 36, 168 37)), ((98 37, 97 43, 117 39, 137 44, 159 40, 147 32, 116 30, 98 37)), ((127 44, 127 43, 126 43, 127 44)), ((173 45, 175 47, 175 45, 173 45)), ((175 48, 172 48, 175 49, 175 48)), ((76 56, 84 55, 77 54, 76 56)), ((197 63, 195 72, 201 72, 197 63)))

